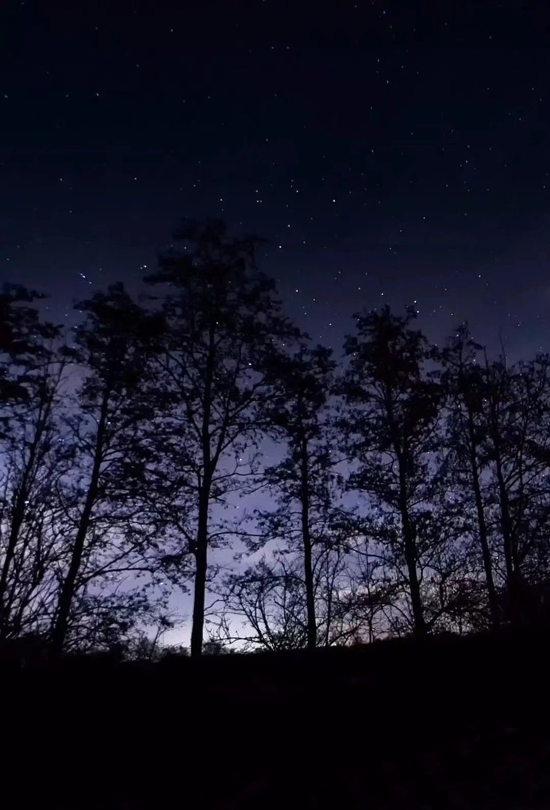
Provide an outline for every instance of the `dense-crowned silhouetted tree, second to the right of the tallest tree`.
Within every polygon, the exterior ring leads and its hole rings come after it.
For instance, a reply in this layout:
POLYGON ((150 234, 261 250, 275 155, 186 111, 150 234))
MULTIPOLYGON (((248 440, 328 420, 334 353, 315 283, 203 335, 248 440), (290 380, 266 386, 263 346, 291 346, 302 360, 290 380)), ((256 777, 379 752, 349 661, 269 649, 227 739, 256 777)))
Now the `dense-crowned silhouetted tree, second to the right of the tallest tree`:
POLYGON ((382 520, 399 518, 413 629, 421 636, 426 621, 420 530, 430 499, 430 438, 441 394, 426 374, 432 349, 420 330, 411 329, 414 317, 412 309, 399 317, 388 307, 356 315, 357 334, 345 341, 350 362, 343 379, 342 431, 354 465, 350 488, 373 498, 382 520))

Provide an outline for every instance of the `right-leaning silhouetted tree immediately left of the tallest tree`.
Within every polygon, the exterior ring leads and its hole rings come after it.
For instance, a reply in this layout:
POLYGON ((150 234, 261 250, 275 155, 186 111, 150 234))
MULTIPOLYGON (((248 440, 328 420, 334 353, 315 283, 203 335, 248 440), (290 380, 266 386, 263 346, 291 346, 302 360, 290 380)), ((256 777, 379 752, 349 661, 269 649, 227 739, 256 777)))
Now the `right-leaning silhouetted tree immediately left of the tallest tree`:
POLYGON ((65 646, 76 595, 80 606, 86 598, 89 604, 94 578, 141 569, 128 557, 139 557, 149 540, 136 482, 147 463, 140 432, 152 413, 150 361, 162 318, 135 304, 122 283, 76 308, 87 315, 75 329, 84 380, 75 398, 78 410, 66 419, 77 445, 77 469, 61 495, 68 559, 53 616, 54 654, 65 646))

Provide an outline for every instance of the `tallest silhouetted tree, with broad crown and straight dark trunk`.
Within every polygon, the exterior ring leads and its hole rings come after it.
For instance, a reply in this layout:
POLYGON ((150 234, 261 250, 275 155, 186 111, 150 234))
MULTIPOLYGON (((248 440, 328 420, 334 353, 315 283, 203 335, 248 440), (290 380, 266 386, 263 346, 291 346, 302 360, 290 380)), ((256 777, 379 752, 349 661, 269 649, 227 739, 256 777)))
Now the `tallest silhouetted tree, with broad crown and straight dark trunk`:
POLYGON ((220 221, 186 221, 179 245, 160 255, 151 284, 169 289, 163 302, 168 330, 160 361, 165 421, 165 471, 173 497, 185 500, 181 555, 194 558, 191 654, 202 653, 208 549, 214 505, 227 503, 250 470, 251 443, 262 425, 269 367, 278 343, 292 335, 274 283, 258 273, 256 237, 230 238, 220 221))

